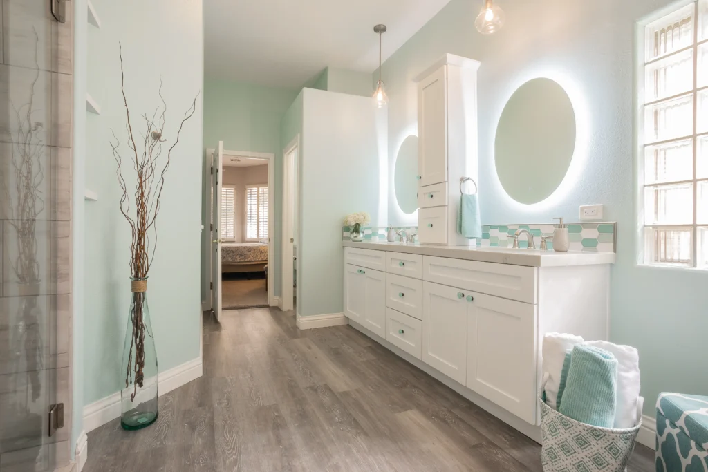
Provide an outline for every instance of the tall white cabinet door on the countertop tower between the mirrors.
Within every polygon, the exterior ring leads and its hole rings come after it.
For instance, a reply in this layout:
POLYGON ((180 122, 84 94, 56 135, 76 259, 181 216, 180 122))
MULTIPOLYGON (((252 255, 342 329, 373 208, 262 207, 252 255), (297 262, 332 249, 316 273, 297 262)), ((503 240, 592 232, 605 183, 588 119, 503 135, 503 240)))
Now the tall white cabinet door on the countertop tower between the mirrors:
POLYGON ((418 84, 419 185, 447 181, 447 67, 418 84))

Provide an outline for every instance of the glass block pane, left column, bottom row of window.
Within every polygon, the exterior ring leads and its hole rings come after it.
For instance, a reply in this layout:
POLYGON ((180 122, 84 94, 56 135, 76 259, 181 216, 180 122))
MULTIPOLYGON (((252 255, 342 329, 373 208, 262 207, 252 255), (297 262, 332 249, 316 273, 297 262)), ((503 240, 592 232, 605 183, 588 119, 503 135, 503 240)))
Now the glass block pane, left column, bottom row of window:
POLYGON ((692 266, 692 229, 645 228, 644 263, 692 266))

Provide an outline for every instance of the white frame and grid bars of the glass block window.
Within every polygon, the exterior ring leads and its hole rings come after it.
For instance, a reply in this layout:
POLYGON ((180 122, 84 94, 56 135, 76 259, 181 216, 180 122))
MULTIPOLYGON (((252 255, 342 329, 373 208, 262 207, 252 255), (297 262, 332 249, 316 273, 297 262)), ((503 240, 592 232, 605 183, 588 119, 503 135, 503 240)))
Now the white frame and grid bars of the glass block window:
MULTIPOLYGON (((708 267, 702 267, 700 266, 699 263, 699 252, 706 253, 708 251, 708 248, 700 248, 699 247, 699 238, 700 238, 700 228, 702 227, 708 227, 708 222, 706 224, 702 224, 699 221, 697 221, 697 214, 698 214, 698 184, 701 182, 708 182, 708 178, 697 178, 697 162, 699 160, 699 149, 698 149, 698 140, 700 137, 707 137, 708 132, 698 132, 698 107, 699 107, 699 102, 698 102, 698 96, 701 91, 707 91, 708 86, 698 86, 698 68, 699 68, 699 48, 702 45, 707 45, 708 44, 708 38, 701 39, 700 38, 700 28, 702 26, 701 23, 701 14, 702 14, 702 9, 706 8, 708 6, 708 0, 685 0, 677 4, 673 4, 671 6, 668 6, 666 8, 661 9, 661 11, 658 11, 654 14, 652 14, 649 18, 647 18, 645 21, 640 21, 637 23, 637 42, 636 44, 638 45, 638 57, 636 60, 637 64, 637 73, 636 73, 636 129, 638 132, 636 133, 636 179, 637 179, 637 201, 639 202, 638 205, 638 220, 639 220, 639 234, 638 234, 638 241, 637 245, 639 248, 638 251, 638 260, 637 263, 639 265, 645 265, 649 267, 678 267, 682 269, 692 269, 692 270, 708 270, 708 267), (669 16, 673 13, 678 13, 680 10, 687 8, 687 6, 692 5, 694 8, 694 11, 692 13, 693 16, 693 38, 692 38, 692 44, 687 47, 683 47, 681 49, 675 50, 673 52, 670 52, 669 54, 664 54, 660 57, 656 57, 655 59, 646 59, 646 48, 649 47, 649 42, 647 41, 646 38, 646 28, 648 25, 651 23, 660 20, 661 18, 664 18, 666 16, 669 16), (690 90, 685 91, 683 93, 679 93, 678 95, 673 95, 673 96, 667 96, 666 98, 661 98, 660 100, 652 100, 652 99, 647 99, 646 96, 648 93, 646 93, 646 67, 658 62, 660 60, 666 59, 667 57, 675 56, 677 54, 685 53, 686 51, 692 51, 693 55, 693 77, 692 77, 692 88, 690 90), (654 105, 656 103, 661 103, 665 101, 670 101, 676 98, 681 98, 685 96, 693 96, 693 127, 692 127, 692 132, 691 134, 687 134, 685 136, 673 138, 673 139, 666 139, 662 140, 659 142, 645 142, 645 136, 646 136, 646 130, 645 130, 645 122, 646 122, 646 107, 654 105), (660 144, 668 144, 672 142, 680 142, 680 141, 685 141, 688 139, 692 139, 693 143, 693 157, 692 157, 692 163, 693 163, 693 172, 692 172, 692 178, 686 179, 686 180, 676 180, 676 181, 667 181, 667 182, 662 182, 659 184, 656 183, 646 183, 645 182, 645 149, 647 146, 652 146, 652 145, 660 145, 660 144), (646 187, 656 187, 656 186, 662 186, 662 185, 678 185, 678 184, 692 184, 693 188, 693 217, 692 217, 692 222, 690 224, 647 224, 646 223, 646 214, 645 214, 645 188, 646 187), (690 260, 688 260, 687 263, 680 263, 679 262, 663 262, 663 261, 651 261, 651 253, 649 252, 649 249, 646 248, 646 229, 647 228, 666 228, 666 229, 690 229, 691 231, 691 244, 690 244, 690 260)), ((703 13, 704 17, 708 16, 706 13, 703 13)), ((704 18, 703 21, 708 21, 708 18, 704 18)), ((708 46, 706 46, 708 47, 708 46)))

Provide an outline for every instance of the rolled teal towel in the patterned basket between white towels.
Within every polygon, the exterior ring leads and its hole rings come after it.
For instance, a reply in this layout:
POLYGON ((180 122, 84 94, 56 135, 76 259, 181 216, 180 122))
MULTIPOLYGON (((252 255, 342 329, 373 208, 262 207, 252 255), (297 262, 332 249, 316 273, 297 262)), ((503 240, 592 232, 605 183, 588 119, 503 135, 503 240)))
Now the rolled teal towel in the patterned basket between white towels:
POLYGON ((599 347, 576 345, 559 412, 598 427, 615 424, 617 359, 599 347))

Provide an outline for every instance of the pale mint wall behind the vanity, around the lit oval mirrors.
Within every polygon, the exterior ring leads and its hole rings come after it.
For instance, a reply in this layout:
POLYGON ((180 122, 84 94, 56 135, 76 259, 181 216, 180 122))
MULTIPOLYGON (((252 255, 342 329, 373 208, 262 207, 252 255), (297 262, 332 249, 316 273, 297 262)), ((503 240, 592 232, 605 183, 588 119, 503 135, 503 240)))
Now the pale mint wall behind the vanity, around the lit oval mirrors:
MULTIPOLYGON (((395 156, 404 137, 416 133, 413 77, 446 52, 481 61, 479 194, 484 224, 577 219, 579 205, 605 204, 605 219, 617 221, 618 231, 610 338, 639 349, 644 413, 652 417, 660 391, 708 393, 708 272, 636 265, 634 24, 667 4, 505 2, 506 26, 484 36, 474 29, 479 4, 452 0, 383 65, 390 98, 389 155, 395 156), (566 188, 546 202, 523 207, 510 201, 496 179, 494 134, 511 93, 537 76, 559 79, 569 91, 584 141, 566 188)), ((395 213, 389 208, 389 214, 395 213)))

